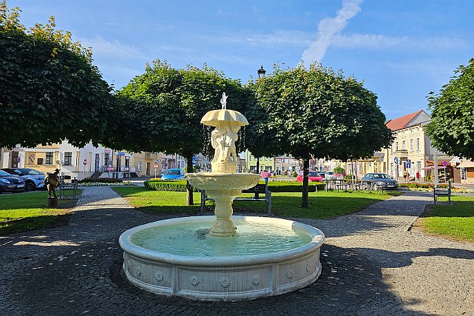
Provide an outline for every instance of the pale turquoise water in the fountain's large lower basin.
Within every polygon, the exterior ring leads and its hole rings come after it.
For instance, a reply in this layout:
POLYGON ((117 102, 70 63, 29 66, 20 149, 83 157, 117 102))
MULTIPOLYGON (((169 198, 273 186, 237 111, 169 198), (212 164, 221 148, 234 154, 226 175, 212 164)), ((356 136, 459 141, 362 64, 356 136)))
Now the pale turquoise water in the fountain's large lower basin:
POLYGON ((234 221, 238 235, 216 237, 205 234, 212 221, 152 227, 131 236, 133 244, 179 256, 253 256, 295 249, 311 242, 302 230, 270 223, 234 221))

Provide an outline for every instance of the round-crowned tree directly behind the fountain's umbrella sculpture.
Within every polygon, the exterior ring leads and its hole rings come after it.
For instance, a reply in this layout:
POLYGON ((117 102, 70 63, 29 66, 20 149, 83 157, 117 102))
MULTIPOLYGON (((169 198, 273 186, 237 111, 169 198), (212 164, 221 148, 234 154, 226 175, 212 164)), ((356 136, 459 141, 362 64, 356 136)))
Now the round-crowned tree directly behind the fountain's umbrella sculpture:
MULTIPOLYGON (((228 109, 240 109, 251 100, 251 91, 238 80, 206 65, 174 69, 166 61, 155 60, 117 93, 125 117, 109 144, 135 152, 177 153, 185 157, 187 171, 193 172, 192 157, 210 153, 210 130, 203 127, 201 118, 219 108, 223 92, 229 95, 228 109)), ((193 203, 190 188, 187 203, 193 203)))

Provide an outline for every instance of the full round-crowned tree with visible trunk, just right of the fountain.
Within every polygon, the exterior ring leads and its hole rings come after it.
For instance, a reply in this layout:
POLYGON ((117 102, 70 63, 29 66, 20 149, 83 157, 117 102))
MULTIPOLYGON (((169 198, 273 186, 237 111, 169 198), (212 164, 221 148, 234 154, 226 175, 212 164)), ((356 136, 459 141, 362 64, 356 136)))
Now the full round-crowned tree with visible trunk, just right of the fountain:
POLYGON ((336 74, 317 63, 309 69, 275 66, 273 74, 260 78, 253 87, 257 104, 245 115, 255 121, 249 127, 253 135, 247 135, 246 145, 252 153, 258 152, 256 155, 289 154, 303 160, 304 208, 308 207, 311 157, 369 157, 392 142, 376 95, 354 78, 345 78, 341 71, 336 74), (269 142, 267 153, 249 137, 269 142))

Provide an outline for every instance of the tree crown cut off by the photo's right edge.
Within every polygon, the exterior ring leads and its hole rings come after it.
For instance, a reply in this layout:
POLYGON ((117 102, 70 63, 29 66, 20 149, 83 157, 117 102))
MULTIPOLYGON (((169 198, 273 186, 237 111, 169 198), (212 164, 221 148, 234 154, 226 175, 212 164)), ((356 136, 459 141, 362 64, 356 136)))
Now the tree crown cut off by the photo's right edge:
POLYGON ((474 58, 454 72, 439 94, 430 93, 427 135, 444 153, 474 160, 474 58))

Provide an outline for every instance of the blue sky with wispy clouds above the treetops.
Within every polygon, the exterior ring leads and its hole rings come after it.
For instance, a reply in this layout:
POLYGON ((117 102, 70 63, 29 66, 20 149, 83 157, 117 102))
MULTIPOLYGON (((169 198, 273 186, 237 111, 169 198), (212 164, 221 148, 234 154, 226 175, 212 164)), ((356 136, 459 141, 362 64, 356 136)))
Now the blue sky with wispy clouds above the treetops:
MULTIPOLYGON (((263 66, 317 61, 364 82, 387 120, 427 109, 474 57, 472 0, 8 0, 21 23, 47 23, 92 47, 115 89, 159 58, 204 63, 242 83, 263 66)), ((229 96, 232 98, 232 95, 229 96)))

